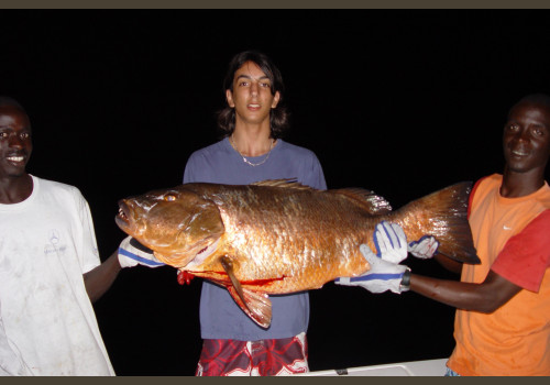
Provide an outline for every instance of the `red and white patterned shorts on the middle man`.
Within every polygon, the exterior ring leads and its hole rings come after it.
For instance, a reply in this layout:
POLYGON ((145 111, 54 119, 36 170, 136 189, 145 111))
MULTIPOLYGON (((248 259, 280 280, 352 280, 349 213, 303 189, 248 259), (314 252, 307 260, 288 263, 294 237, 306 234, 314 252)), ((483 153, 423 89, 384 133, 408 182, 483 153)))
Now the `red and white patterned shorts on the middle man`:
POLYGON ((205 340, 198 376, 272 376, 309 372, 306 333, 260 340, 205 340))

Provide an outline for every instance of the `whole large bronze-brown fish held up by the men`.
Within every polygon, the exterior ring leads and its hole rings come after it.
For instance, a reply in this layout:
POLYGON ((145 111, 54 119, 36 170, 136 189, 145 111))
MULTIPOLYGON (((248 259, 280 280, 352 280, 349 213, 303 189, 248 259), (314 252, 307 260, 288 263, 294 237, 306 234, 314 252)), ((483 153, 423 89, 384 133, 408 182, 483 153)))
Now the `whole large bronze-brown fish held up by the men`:
POLYGON ((255 322, 271 322, 268 294, 320 288, 370 265, 359 251, 382 220, 407 239, 438 239, 438 251, 479 263, 466 219, 471 184, 450 186, 392 212, 362 189, 316 190, 288 180, 186 184, 122 199, 116 221, 180 274, 224 286, 255 322))

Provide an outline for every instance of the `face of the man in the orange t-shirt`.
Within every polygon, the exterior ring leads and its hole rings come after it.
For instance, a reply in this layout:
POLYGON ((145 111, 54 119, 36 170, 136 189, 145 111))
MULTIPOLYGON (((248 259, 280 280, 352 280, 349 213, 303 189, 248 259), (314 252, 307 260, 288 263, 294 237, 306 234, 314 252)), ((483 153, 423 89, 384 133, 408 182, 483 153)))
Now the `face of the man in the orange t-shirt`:
POLYGON ((504 127, 503 145, 508 170, 543 173, 550 156, 548 109, 529 102, 514 107, 504 127))

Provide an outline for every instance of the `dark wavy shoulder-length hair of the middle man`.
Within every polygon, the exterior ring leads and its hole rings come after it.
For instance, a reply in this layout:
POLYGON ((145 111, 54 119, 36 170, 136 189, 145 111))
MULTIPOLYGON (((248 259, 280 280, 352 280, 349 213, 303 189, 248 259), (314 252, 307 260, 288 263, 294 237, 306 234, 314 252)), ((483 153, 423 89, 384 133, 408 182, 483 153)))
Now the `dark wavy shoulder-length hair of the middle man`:
MULTIPOLYGON (((280 72, 272 62, 272 59, 257 51, 244 51, 240 54, 233 56, 231 62, 229 62, 228 72, 223 80, 223 91, 230 90, 233 92, 233 77, 239 68, 246 63, 252 62, 256 64, 264 74, 270 78, 272 87, 272 95, 278 91, 279 102, 277 107, 271 110, 270 113, 270 125, 271 125, 271 138, 280 138, 284 132, 288 129, 289 112, 286 106, 283 103, 283 92, 285 90, 285 85, 283 82, 283 76, 280 72)), ((224 109, 218 111, 218 127, 223 131, 226 136, 233 133, 235 129, 235 111, 231 107, 226 107, 224 109)))

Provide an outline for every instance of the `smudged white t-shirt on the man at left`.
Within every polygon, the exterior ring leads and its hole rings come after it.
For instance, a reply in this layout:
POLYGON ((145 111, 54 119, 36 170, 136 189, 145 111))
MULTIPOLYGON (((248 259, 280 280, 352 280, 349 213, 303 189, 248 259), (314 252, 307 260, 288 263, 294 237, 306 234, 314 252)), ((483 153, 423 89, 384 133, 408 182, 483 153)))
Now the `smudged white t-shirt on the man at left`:
POLYGON ((32 176, 0 205, 0 374, 114 375, 82 274, 100 264, 80 191, 32 176))

